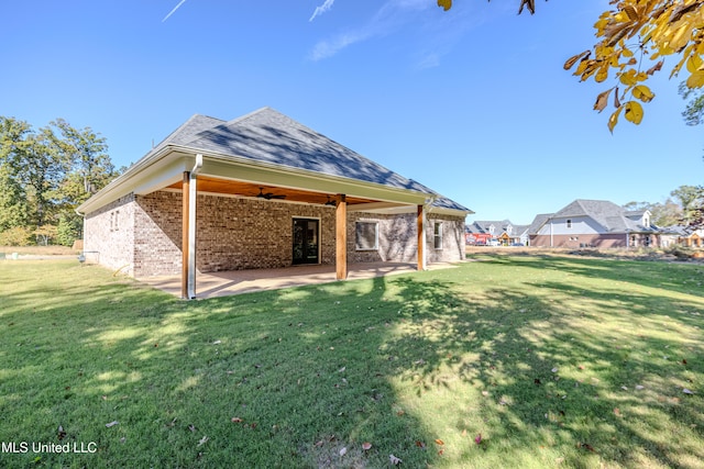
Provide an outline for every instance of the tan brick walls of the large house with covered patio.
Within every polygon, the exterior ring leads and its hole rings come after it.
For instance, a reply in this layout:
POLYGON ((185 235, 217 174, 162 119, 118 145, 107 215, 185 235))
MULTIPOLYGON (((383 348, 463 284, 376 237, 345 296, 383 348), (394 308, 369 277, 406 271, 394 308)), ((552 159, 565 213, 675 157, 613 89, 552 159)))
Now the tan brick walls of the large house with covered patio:
MULTIPOLYGON (((86 216, 86 250, 100 264, 134 277, 182 272, 182 194, 157 191, 129 196, 86 216), (119 226, 110 228, 114 212, 119 226), (112 216, 112 219, 111 219, 112 216)), ((320 221, 320 264, 336 260, 336 209, 278 201, 198 196, 196 267, 201 272, 288 267, 293 260, 294 217, 320 221)), ((348 214, 348 260, 416 261, 416 214, 348 214), (355 222, 378 223, 378 249, 355 249, 355 222)), ((426 226, 428 261, 464 257, 464 220, 430 214, 426 226), (433 223, 443 225, 442 249, 433 247, 433 223)))

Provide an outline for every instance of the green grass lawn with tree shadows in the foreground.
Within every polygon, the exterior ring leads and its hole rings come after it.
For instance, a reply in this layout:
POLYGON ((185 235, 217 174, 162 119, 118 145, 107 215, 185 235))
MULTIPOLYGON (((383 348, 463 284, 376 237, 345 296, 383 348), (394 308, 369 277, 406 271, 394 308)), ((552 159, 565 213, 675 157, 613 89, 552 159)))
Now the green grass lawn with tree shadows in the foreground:
POLYGON ((0 261, 0 466, 704 467, 704 265, 481 260, 193 302, 0 261))

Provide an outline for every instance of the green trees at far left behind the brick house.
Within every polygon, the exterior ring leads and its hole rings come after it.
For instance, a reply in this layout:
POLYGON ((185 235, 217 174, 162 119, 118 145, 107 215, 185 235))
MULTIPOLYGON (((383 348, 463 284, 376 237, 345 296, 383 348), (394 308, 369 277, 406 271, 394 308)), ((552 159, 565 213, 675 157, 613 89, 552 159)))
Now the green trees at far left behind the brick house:
POLYGON ((76 208, 123 169, 90 127, 0 116, 0 246, 72 246, 82 237, 76 208))

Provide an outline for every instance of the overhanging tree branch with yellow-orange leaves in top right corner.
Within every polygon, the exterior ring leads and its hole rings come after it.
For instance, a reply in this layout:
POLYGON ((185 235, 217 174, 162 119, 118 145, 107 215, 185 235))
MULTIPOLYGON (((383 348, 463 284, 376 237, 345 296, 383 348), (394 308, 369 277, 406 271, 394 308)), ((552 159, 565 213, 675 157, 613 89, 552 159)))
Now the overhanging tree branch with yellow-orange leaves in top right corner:
MULTIPOLYGON (((536 12, 535 0, 519 0, 519 10, 536 12)), ((594 24, 598 42, 593 48, 570 57, 564 69, 574 69, 581 81, 615 83, 596 97, 594 110, 612 103, 608 129, 614 132, 619 116, 640 124, 644 103, 654 93, 646 85, 660 71, 668 56, 678 63, 670 78, 684 75, 685 87, 704 87, 704 0, 612 0, 594 24), (612 99, 613 93, 613 99, 612 99)), ((446 11, 452 0, 438 0, 446 11)))

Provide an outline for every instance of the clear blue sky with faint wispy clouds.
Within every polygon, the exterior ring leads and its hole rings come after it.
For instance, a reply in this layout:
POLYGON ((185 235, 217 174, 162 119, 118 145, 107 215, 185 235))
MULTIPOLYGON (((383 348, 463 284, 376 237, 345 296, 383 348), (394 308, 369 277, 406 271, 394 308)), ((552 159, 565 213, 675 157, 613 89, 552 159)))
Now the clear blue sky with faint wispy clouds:
POLYGON ((530 223, 574 199, 661 202, 704 182, 672 60, 635 126, 562 69, 607 0, 55 0, 0 4, 0 115, 56 118, 138 160, 195 113, 272 107, 476 212, 530 223))

